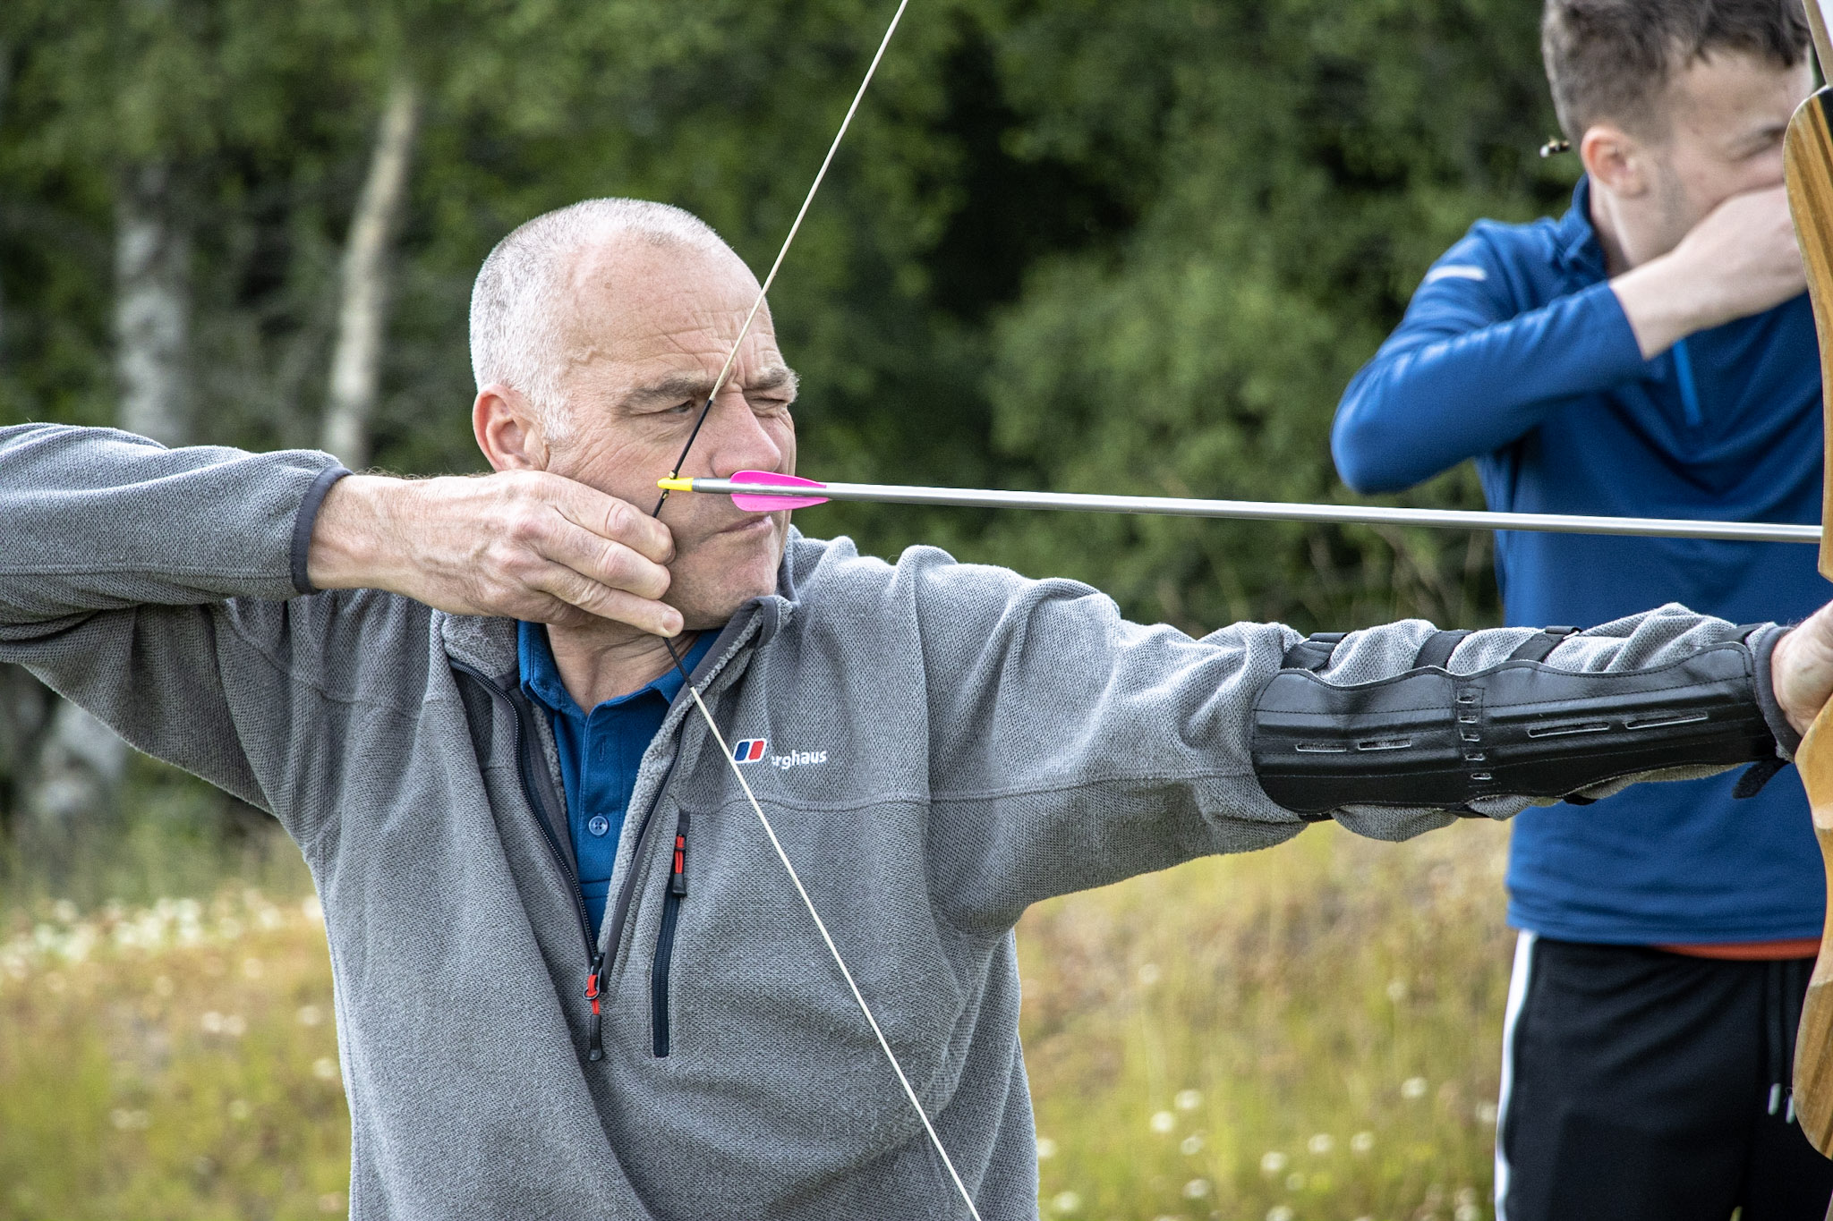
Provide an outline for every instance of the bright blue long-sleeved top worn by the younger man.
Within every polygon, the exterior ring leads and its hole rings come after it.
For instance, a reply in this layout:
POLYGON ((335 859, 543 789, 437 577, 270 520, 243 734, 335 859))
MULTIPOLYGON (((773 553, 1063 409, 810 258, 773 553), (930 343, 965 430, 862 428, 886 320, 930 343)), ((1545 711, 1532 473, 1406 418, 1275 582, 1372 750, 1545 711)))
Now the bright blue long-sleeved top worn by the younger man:
MULTIPOLYGON (((1580 181, 1560 220, 1477 222, 1413 293, 1336 408, 1360 492, 1466 458, 1492 509, 1820 520, 1820 359, 1807 297, 1642 361, 1606 282, 1580 181)), ((1591 626, 1661 602, 1793 621, 1833 595, 1815 549, 1496 535, 1510 624, 1591 626)), ((1635 785, 1514 826, 1509 919, 1547 937, 1727 943, 1820 932, 1824 879, 1800 778, 1734 802, 1736 776, 1635 785)))

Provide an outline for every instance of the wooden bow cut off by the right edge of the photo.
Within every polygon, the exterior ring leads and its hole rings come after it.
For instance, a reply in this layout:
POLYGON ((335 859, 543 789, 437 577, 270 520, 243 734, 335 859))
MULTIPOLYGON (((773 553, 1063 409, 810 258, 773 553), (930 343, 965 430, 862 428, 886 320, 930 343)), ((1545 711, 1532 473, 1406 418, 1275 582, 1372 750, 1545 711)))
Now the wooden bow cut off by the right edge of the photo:
MULTIPOLYGON (((1833 7, 1833 0, 1807 0, 1807 24, 1815 35, 1822 75, 1833 70, 1828 7, 1833 7)), ((1824 86, 1795 112, 1784 143, 1784 167, 1820 344, 1822 412, 1829 445, 1820 509, 1826 524, 1828 505, 1833 503, 1833 88, 1824 86)), ((1833 544, 1826 536, 1820 540, 1820 575, 1833 580, 1833 544)), ((1833 893, 1833 703, 1820 710, 1807 730, 1795 765, 1807 789, 1828 891, 1833 893)), ((1833 1151, 1833 904, 1828 917, 1795 1038, 1795 1117, 1809 1144, 1822 1153, 1833 1151)))

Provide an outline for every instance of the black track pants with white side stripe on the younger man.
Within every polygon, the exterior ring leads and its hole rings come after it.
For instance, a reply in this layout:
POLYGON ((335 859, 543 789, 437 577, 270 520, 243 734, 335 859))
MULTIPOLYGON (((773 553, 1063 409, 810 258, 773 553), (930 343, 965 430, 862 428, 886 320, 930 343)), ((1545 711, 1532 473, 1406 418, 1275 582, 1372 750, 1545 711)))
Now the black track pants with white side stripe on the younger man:
POLYGON ((1523 934, 1498 1221, 1727 1221, 1740 1206, 1741 1221, 1822 1221, 1833 1162, 1787 1104, 1811 970, 1523 934))

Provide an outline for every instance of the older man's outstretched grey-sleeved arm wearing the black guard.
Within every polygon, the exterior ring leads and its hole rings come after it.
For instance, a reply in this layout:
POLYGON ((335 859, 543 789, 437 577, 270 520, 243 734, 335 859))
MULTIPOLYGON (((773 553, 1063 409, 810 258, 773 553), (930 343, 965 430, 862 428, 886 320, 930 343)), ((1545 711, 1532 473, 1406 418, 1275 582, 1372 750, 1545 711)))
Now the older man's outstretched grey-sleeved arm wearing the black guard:
POLYGON ((927 657, 938 886, 964 926, 1267 848, 1316 816, 1404 838, 1637 776, 1778 762, 1833 686, 1828 615, 1784 637, 1670 606, 1562 641, 1474 632, 1439 657, 1432 624, 1406 621, 1318 657, 1279 624, 1201 641, 1131 624, 1072 582, 916 553, 898 573, 927 657), (1300 683, 1342 697, 1283 699, 1300 683), (1320 732, 1294 734, 1301 723, 1320 732), (1608 732, 1593 738, 1597 723, 1608 732))

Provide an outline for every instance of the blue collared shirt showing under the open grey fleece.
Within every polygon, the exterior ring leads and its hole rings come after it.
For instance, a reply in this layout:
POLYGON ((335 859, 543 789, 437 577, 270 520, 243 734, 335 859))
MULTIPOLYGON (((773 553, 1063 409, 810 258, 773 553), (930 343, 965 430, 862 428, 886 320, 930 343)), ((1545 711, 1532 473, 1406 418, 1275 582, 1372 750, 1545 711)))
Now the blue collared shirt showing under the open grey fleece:
MULTIPOLYGON (((717 635, 702 632, 693 643, 682 657, 687 674, 700 665, 717 635)), ((521 624, 517 655, 522 690, 548 714, 554 727, 566 787, 566 827, 574 860, 579 862, 579 893, 585 895, 585 912, 596 930, 605 921, 610 870, 618 862, 618 837, 623 835, 623 815, 636 789, 636 769, 682 688, 682 675, 671 668, 642 690, 581 712, 561 683, 546 628, 537 622, 521 624)))

